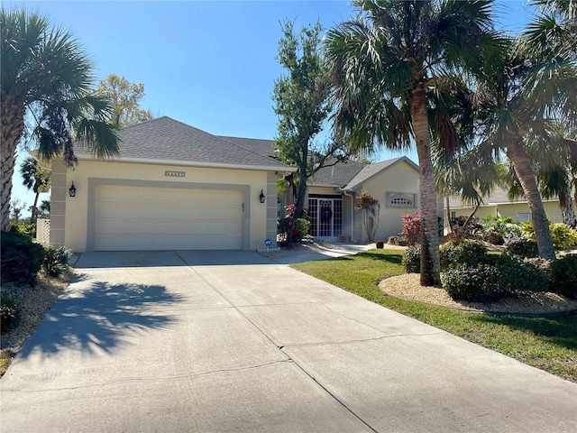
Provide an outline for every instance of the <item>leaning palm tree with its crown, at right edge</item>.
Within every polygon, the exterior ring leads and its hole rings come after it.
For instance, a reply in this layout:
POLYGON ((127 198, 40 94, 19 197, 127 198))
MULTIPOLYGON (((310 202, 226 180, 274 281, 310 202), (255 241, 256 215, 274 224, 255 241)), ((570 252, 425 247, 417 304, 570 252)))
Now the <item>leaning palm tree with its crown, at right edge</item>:
POLYGON ((535 49, 527 41, 509 41, 499 58, 483 69, 478 90, 480 109, 486 115, 480 133, 485 145, 506 152, 529 204, 539 255, 554 260, 529 144, 538 144, 539 159, 544 162, 547 154, 553 154, 545 152, 545 143, 554 143, 551 125, 558 119, 572 123, 577 110, 577 64, 574 55, 535 49))

